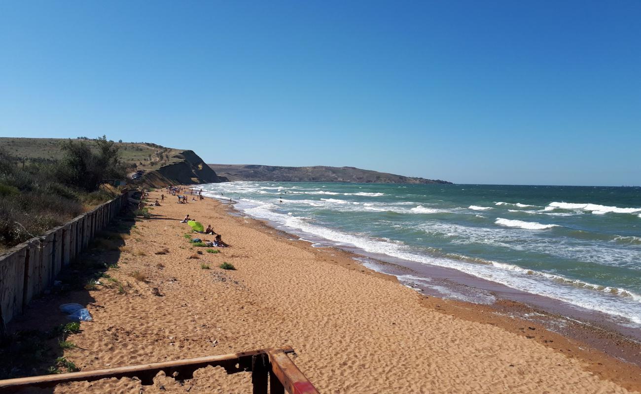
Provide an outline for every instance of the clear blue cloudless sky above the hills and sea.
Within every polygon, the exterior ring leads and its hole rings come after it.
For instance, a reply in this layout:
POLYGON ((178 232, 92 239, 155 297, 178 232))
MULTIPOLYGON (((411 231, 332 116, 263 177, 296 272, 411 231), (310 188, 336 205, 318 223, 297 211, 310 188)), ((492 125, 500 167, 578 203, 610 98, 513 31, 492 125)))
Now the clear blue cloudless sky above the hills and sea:
POLYGON ((0 2, 0 136, 641 184, 641 1, 0 2))

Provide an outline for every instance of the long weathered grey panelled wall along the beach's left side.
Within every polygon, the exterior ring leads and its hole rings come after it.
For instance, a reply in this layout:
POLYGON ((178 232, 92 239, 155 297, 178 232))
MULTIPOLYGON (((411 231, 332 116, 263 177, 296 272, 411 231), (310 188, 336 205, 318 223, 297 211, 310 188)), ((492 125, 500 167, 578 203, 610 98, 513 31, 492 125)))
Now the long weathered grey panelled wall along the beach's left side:
POLYGON ((0 334, 126 207, 128 193, 0 254, 0 334))

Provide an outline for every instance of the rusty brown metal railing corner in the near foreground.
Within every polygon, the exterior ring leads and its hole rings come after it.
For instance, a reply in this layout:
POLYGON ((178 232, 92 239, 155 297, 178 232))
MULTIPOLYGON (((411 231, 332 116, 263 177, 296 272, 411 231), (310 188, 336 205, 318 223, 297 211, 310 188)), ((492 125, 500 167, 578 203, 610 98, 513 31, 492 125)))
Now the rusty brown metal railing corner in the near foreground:
POLYGON ((141 384, 151 385, 158 372, 168 377, 187 380, 194 377, 194 371, 206 366, 222 366, 226 372, 251 372, 253 394, 319 394, 313 384, 303 375, 287 354, 294 353, 291 347, 261 349, 251 352, 206 356, 162 363, 121 366, 104 370, 92 370, 58 375, 19 377, 0 381, 0 393, 13 393, 29 387, 47 388, 56 384, 78 381, 99 381, 110 377, 137 377, 141 384), (269 384, 268 384, 269 381, 269 384))

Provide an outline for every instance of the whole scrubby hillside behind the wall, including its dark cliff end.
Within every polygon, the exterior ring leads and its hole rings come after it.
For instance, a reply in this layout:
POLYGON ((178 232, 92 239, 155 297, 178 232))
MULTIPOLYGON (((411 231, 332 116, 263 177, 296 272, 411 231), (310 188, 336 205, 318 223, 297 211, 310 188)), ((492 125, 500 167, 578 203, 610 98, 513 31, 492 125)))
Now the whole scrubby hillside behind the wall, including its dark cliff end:
POLYGON ((59 226, 118 191, 226 181, 193 151, 101 138, 0 138, 0 250, 59 226), (142 171, 135 181, 129 174, 142 171))

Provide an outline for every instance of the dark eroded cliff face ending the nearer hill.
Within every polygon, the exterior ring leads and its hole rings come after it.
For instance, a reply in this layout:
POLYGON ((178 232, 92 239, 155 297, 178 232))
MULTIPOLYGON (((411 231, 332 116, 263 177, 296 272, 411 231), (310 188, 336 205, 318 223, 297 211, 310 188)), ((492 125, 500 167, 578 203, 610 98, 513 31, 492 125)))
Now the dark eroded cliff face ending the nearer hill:
POLYGON ((194 185, 198 183, 226 182, 226 177, 217 176, 194 151, 182 151, 172 156, 178 161, 164 165, 145 174, 142 183, 151 187, 166 185, 194 185))

